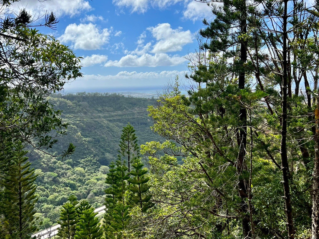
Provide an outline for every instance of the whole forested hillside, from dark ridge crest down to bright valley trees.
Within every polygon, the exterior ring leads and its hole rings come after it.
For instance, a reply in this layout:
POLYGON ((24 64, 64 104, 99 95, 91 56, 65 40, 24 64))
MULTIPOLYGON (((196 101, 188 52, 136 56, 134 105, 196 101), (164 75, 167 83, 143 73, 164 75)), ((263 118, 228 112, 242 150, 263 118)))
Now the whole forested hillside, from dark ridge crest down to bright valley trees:
MULTIPOLYGON (((37 216, 44 220, 41 228, 56 223, 61 205, 70 194, 87 199, 94 207, 103 204, 107 165, 117 159, 122 128, 128 122, 135 127, 139 144, 159 139, 150 128, 152 122, 146 111, 155 99, 108 93, 54 94, 47 99, 63 111, 63 121, 70 123, 67 135, 59 137, 54 150, 66 149, 69 143, 76 150, 63 160, 40 151, 30 152, 38 174, 36 208, 37 216)), ((49 153, 57 155, 54 150, 49 153)))

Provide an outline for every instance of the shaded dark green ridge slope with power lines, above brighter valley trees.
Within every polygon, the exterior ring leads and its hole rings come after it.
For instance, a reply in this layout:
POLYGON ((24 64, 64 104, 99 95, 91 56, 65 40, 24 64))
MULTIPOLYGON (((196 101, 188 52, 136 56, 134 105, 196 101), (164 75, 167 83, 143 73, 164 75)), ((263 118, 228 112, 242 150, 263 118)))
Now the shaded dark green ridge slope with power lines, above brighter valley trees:
POLYGON ((158 138, 149 130, 152 123, 147 117, 147 106, 155 104, 155 99, 83 92, 52 95, 48 100, 63 111, 63 122, 70 123, 68 135, 61 138, 60 147, 68 142, 77 145, 71 158, 93 155, 102 165, 116 160, 118 138, 128 122, 138 131, 139 143, 158 138))

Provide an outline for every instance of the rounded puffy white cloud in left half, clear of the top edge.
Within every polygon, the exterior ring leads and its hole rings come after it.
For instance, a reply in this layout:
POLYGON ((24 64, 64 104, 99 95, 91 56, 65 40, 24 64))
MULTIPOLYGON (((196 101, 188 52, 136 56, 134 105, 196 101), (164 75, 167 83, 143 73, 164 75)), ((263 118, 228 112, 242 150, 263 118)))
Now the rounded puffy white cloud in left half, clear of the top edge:
POLYGON ((108 28, 100 30, 93 23, 70 24, 64 34, 59 37, 61 42, 71 43, 74 49, 96 50, 108 43, 110 31, 108 28))

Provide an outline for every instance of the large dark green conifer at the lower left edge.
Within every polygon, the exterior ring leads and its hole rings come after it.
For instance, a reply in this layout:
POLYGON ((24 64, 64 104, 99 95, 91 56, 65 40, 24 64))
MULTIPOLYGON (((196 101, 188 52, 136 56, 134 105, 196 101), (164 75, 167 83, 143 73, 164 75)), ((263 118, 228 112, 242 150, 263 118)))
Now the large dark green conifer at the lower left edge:
POLYGON ((23 150, 21 142, 5 143, 4 151, 0 151, 2 161, 1 186, 1 214, 4 221, 4 238, 30 238, 35 230, 34 205, 35 195, 34 168, 24 157, 27 151, 23 150))

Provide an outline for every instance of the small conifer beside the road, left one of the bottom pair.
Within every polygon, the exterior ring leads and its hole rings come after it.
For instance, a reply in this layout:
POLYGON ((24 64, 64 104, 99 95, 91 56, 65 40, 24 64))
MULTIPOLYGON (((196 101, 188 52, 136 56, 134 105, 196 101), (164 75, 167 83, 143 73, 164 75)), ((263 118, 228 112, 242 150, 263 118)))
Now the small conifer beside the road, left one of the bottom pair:
POLYGON ((63 204, 58 223, 61 225, 58 229, 58 236, 61 238, 73 239, 75 235, 75 227, 77 224, 78 213, 75 205, 78 204, 77 198, 70 195, 68 202, 63 204))

